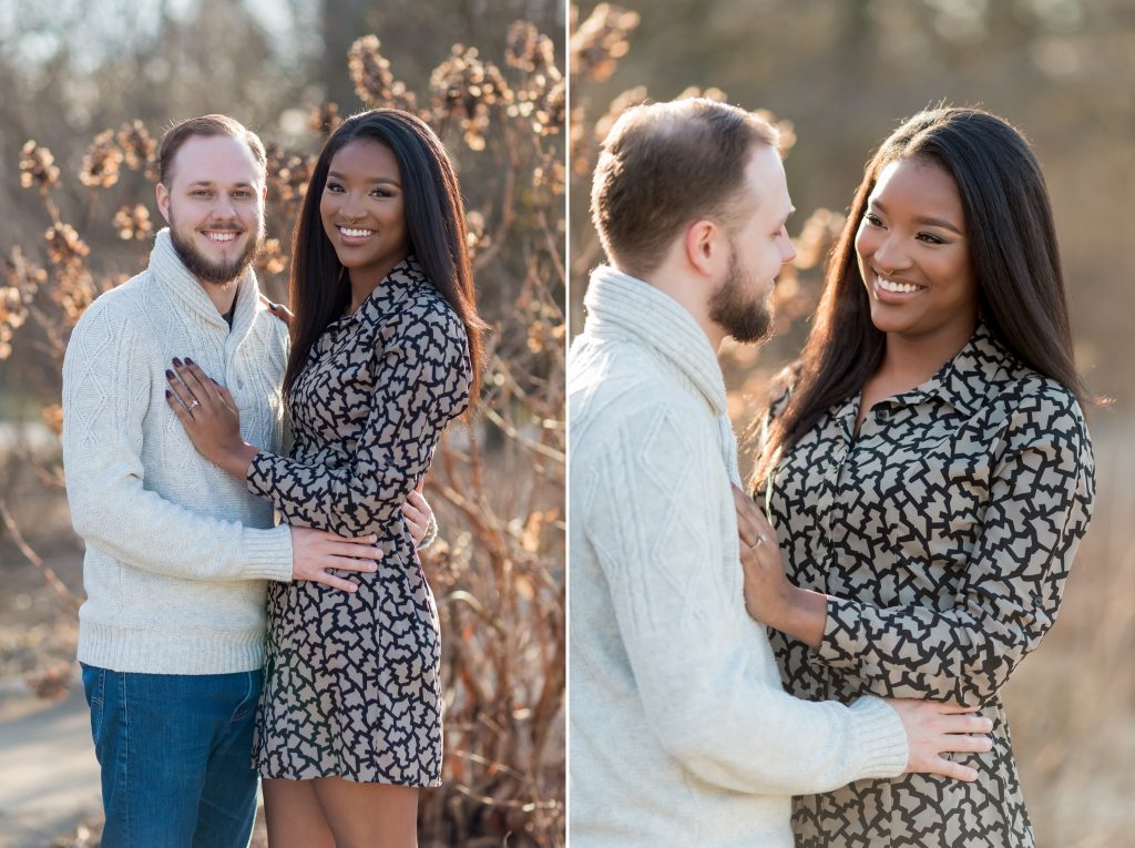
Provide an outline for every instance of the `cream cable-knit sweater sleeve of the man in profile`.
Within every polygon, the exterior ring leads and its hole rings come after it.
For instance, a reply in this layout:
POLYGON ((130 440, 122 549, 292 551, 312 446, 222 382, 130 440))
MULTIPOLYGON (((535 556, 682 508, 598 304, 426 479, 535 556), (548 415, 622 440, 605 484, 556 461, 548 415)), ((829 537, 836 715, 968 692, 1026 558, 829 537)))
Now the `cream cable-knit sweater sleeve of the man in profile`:
POLYGON ((729 477, 704 411, 655 404, 602 437, 573 465, 572 520, 609 586, 663 749, 698 779, 741 792, 809 794, 899 774, 906 734, 886 704, 816 704, 781 688, 734 585, 735 544, 730 553, 720 532, 722 513, 732 514, 729 477))

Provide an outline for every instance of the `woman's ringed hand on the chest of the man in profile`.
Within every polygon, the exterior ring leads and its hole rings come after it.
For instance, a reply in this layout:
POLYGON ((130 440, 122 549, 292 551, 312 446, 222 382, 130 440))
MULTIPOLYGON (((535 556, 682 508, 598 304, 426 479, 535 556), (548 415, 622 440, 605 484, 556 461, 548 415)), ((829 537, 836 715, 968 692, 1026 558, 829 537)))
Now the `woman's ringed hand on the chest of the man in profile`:
POLYGON ((755 621, 819 647, 827 622, 826 596, 789 581, 776 531, 754 499, 737 486, 733 506, 745 570, 745 608, 755 621))

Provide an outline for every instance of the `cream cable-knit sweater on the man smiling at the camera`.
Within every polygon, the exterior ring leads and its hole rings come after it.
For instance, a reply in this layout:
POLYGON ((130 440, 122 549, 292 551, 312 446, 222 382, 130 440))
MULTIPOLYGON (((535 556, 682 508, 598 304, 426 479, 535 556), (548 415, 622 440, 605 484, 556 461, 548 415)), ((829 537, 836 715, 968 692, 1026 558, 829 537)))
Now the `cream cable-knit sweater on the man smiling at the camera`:
POLYGON ((278 452, 287 329, 249 270, 229 330, 158 234, 150 267, 86 310, 64 362, 64 468, 86 540, 78 658, 127 672, 220 674, 263 662, 266 580, 292 577, 287 527, 199 454, 166 404, 190 356, 226 385, 254 445, 278 452))

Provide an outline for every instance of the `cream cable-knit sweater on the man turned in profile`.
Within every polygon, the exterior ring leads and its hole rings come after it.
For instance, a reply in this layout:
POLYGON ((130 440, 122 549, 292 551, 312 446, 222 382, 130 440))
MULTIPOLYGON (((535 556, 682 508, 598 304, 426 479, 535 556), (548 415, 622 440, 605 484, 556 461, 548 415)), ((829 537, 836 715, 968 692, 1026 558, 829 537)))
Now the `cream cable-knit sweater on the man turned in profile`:
POLYGON ((790 848, 790 796, 899 774, 877 698, 784 694, 745 611, 737 443, 693 318, 600 267, 569 360, 572 848, 790 848))

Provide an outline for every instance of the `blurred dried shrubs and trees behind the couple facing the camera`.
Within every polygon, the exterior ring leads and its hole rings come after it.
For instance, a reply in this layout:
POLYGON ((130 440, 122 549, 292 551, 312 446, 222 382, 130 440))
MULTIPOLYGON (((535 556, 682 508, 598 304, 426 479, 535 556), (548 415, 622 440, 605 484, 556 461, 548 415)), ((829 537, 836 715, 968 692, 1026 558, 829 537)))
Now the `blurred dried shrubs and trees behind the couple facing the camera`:
MULTIPOLYGON (((59 465, 61 355, 163 226, 163 131, 224 112, 266 142, 258 268, 284 300, 327 134, 360 109, 405 108, 454 159, 493 327, 480 413, 451 428, 427 482, 446 784, 423 796, 421 843, 563 843, 565 16, 556 0, 0 5, 0 680, 43 697, 74 680, 82 545, 59 465)), ((76 834, 96 843, 98 823, 76 834)))

